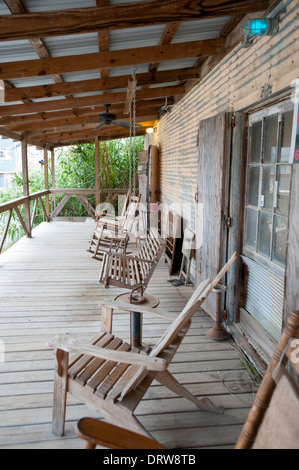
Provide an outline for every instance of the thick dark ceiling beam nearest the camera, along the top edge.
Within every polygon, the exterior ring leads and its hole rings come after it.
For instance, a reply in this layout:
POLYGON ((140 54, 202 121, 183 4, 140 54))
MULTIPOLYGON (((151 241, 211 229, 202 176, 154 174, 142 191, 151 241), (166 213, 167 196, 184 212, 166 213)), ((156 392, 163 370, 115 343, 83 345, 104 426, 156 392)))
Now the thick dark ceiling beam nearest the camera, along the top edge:
POLYGON ((102 29, 134 28, 191 21, 265 10, 269 0, 156 0, 130 4, 96 6, 2 15, 0 40, 16 40, 80 34, 102 29))

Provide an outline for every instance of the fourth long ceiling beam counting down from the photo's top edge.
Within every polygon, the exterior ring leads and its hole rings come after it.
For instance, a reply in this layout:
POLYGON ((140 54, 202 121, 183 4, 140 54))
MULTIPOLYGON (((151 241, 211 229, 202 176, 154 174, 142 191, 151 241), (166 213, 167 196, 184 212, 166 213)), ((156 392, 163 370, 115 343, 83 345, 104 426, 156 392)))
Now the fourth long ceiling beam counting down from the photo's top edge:
MULTIPOLYGON (((136 100, 151 100, 155 98, 165 98, 181 95, 184 87, 160 87, 149 88, 148 90, 138 90, 136 100)), ((124 103, 126 93, 110 93, 109 103, 124 103)), ((46 111, 58 111, 63 109, 79 108, 80 106, 99 106, 107 104, 107 95, 87 96, 83 98, 71 98, 65 100, 41 101, 39 103, 26 103, 11 106, 2 106, 0 116, 13 116, 17 114, 42 113, 46 111)))

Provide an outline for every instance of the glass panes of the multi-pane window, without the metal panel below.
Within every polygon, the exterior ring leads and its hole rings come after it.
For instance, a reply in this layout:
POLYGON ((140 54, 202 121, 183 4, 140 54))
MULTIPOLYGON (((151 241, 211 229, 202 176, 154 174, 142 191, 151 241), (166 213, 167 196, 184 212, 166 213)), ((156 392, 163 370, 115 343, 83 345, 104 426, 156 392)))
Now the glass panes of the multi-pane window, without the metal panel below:
POLYGON ((246 190, 245 245, 285 265, 291 170, 291 104, 252 115, 246 190))

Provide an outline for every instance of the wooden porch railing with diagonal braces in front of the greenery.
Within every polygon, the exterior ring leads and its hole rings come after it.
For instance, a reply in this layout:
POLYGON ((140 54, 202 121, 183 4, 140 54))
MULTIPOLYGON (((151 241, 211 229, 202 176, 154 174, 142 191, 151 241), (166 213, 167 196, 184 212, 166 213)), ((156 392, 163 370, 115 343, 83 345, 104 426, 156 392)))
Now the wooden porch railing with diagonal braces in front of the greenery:
MULTIPOLYGON (((100 195, 102 196, 101 202, 105 201, 110 202, 113 204, 120 194, 126 194, 127 189, 111 189, 111 188, 102 188, 100 190, 100 195), (106 195, 104 198, 103 195, 106 195)), ((28 238, 31 238, 31 231, 34 225, 34 219, 36 217, 36 209, 38 202, 40 203, 43 213, 45 215, 45 220, 50 222, 57 217, 58 214, 62 211, 64 206, 67 204, 69 199, 73 196, 77 197, 77 199, 81 202, 82 206, 85 208, 86 212, 89 214, 90 217, 95 218, 95 208, 90 204, 87 197, 88 195, 95 195, 95 189, 46 189, 44 191, 39 191, 37 193, 30 194, 29 196, 23 196, 18 199, 14 199, 12 201, 5 202, 0 204, 0 214, 7 212, 7 216, 5 219, 5 224, 2 233, 0 233, 0 253, 3 250, 4 243, 7 238, 7 234, 9 232, 9 226, 11 223, 11 218, 13 211, 18 216, 18 219, 24 229, 25 235, 28 238), (62 200, 56 205, 56 195, 63 194, 62 200), (49 210, 49 196, 52 195, 52 210, 49 210), (45 197, 45 202, 43 201, 43 197, 45 197), (34 201, 34 206, 32 213, 30 214, 30 202, 34 201), (25 217, 22 216, 20 212, 20 206, 24 205, 27 206, 27 211, 25 210, 25 217), (27 217, 26 217, 27 214, 27 217), (28 215, 29 214, 29 215, 28 215)))

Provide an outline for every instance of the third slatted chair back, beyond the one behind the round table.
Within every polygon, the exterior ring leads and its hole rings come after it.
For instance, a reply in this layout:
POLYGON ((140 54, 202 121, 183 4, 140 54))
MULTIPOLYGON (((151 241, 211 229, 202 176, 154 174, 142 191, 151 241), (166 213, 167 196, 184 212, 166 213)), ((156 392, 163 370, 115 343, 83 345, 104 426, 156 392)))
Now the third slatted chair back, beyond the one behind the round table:
POLYGON ((104 253, 125 253, 132 231, 140 196, 131 196, 126 212, 119 218, 100 217, 92 234, 89 248, 93 258, 102 260, 104 253))

